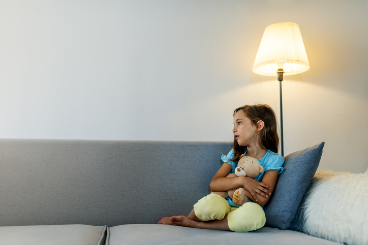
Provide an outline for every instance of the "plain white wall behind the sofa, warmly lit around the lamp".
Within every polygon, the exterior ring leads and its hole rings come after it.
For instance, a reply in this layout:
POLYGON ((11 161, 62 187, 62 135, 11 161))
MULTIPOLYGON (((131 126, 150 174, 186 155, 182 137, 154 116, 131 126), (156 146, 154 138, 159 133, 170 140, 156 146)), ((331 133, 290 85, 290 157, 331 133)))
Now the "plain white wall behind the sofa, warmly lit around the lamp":
POLYGON ((283 82, 285 154, 368 167, 367 1, 0 0, 0 137, 232 141, 268 103, 252 73, 264 28, 299 24, 311 69, 283 82))

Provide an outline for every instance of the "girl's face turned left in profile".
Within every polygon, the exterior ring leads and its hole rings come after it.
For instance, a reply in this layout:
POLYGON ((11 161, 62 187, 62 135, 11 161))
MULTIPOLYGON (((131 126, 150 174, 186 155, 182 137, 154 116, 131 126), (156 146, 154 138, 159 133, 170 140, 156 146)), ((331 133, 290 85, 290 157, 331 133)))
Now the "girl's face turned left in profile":
POLYGON ((239 146, 250 146, 256 143, 257 126, 242 111, 234 116, 234 137, 239 146))

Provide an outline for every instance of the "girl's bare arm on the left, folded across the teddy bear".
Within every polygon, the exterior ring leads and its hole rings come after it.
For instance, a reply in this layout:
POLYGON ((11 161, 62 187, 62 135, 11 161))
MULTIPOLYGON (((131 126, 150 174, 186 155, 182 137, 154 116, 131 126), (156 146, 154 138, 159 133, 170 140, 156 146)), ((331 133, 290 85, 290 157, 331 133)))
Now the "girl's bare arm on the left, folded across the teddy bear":
MULTIPOLYGON (((258 182, 252 178, 242 176, 237 178, 226 178, 226 176, 228 176, 228 174, 230 173, 231 169, 232 165, 228 163, 222 164, 220 169, 217 171, 217 173, 211 180, 211 183, 209 183, 209 189, 211 191, 228 191, 235 188, 243 187, 246 191, 248 191, 248 194, 252 196, 251 199, 256 200, 256 202, 259 200, 257 199, 255 193, 258 193, 259 197, 263 196, 264 198, 269 198, 270 187, 268 186, 267 183, 272 183, 272 181, 267 181, 268 177, 265 179, 266 173, 268 171, 264 174, 262 182, 258 182), (265 180, 265 182, 263 180, 265 180)), ((276 183, 276 180, 274 181, 274 183, 276 183)), ((272 188, 274 187, 274 185, 272 186, 272 188)))

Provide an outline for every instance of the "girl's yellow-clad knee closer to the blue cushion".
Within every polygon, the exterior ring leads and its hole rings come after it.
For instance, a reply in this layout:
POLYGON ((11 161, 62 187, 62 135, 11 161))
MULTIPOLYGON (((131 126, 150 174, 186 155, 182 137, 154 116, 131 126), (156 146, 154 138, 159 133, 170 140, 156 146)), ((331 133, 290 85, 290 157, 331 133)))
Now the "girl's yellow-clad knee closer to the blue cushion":
POLYGON ((247 202, 229 213, 227 220, 230 230, 248 232, 262 228, 266 223, 266 216, 260 205, 255 202, 247 202))

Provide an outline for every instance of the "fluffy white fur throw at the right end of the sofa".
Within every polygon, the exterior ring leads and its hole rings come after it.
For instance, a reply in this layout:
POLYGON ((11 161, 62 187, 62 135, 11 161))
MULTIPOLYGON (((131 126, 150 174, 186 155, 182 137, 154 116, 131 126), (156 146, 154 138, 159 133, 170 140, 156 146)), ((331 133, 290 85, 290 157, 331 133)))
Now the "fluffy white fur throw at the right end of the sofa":
POLYGON ((317 172, 290 229, 345 244, 368 244, 368 171, 317 172))

